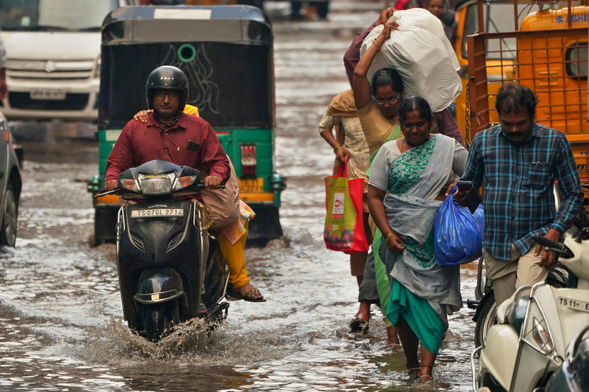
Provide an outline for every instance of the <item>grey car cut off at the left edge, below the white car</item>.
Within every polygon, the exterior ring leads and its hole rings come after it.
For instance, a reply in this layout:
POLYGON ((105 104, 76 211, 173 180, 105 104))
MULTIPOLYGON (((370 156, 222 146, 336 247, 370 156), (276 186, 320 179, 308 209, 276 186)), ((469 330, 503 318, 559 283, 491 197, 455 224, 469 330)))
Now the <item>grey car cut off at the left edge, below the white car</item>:
POLYGON ((18 198, 21 196, 21 162, 8 121, 0 113, 0 245, 13 247, 16 243, 18 198))

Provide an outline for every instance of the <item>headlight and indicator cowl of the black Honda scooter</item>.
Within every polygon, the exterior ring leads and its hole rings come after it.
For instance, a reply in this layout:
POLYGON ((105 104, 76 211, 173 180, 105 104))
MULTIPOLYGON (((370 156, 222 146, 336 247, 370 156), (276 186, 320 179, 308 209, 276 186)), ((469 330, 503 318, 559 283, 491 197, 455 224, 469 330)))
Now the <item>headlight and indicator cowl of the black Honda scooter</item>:
POLYGON ((143 196, 164 196, 177 194, 179 191, 182 194, 194 194, 199 191, 198 186, 195 186, 198 184, 199 174, 192 167, 153 160, 119 174, 119 186, 121 191, 128 191, 124 193, 143 196))

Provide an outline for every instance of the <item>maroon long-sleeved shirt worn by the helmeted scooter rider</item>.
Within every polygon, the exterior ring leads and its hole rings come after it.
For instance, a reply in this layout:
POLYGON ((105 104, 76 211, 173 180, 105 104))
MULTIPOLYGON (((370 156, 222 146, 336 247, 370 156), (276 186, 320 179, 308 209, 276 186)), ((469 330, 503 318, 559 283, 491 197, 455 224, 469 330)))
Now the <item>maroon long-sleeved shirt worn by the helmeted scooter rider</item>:
POLYGON ((223 183, 229 179, 229 159, 207 121, 180 113, 177 123, 163 131, 163 125, 150 113, 147 123, 131 120, 125 125, 106 161, 104 181, 154 159, 194 169, 204 167, 223 183))

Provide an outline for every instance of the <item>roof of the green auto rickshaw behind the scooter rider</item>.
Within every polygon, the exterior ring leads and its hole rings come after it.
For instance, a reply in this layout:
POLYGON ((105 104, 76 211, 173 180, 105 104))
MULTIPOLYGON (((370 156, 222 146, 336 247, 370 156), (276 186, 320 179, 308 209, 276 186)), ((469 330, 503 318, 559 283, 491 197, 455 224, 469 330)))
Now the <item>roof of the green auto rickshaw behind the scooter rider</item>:
POLYGON ((272 24, 253 6, 127 6, 102 25, 102 45, 184 41, 272 45, 272 24))

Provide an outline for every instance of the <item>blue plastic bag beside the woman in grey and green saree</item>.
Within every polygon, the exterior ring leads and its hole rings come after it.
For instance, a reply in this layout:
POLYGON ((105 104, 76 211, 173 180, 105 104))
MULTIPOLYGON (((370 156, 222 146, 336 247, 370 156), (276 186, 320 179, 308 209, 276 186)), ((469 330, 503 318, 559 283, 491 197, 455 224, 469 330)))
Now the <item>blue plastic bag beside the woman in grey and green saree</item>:
POLYGON ((434 252, 440 265, 467 264, 483 254, 483 206, 474 215, 458 206, 452 192, 434 220, 434 252))

